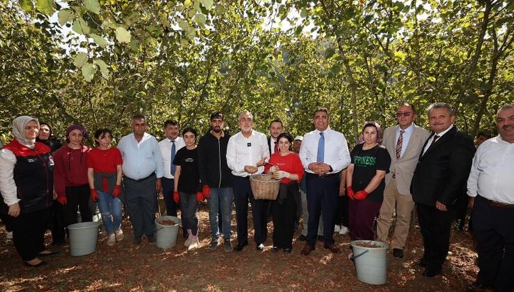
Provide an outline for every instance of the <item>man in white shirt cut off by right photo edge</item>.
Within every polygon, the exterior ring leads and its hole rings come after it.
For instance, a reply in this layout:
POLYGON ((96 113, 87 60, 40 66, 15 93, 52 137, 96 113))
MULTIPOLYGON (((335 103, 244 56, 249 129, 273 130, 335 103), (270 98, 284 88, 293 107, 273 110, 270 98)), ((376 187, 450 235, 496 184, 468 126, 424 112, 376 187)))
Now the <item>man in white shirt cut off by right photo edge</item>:
POLYGON ((467 291, 514 291, 514 104, 496 122, 499 135, 476 150, 467 179, 480 268, 467 291))

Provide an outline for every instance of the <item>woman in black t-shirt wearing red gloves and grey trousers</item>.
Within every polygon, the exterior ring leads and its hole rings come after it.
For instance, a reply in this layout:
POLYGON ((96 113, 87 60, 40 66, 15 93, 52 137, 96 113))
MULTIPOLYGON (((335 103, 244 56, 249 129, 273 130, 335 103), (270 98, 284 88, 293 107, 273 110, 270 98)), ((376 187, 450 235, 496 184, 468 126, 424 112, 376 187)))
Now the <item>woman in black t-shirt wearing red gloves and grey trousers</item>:
POLYGON ((176 152, 173 164, 175 168, 175 191, 173 194, 175 202, 180 196, 182 210, 182 224, 188 230, 188 239, 184 245, 188 250, 198 248, 198 204, 203 197, 198 197, 200 186, 200 172, 198 170, 197 131, 186 128, 182 131, 185 147, 176 152))

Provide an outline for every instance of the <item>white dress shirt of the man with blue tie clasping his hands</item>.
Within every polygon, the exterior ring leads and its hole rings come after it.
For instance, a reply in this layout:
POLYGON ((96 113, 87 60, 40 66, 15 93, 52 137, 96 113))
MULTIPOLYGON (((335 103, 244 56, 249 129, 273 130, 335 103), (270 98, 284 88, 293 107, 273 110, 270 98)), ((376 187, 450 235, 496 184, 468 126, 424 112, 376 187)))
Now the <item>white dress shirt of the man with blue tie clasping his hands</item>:
MULTIPOLYGON (((345 135, 338 131, 333 131, 330 127, 323 131, 325 138, 324 163, 332 167, 329 173, 340 172, 350 165, 350 152, 345 135)), ((305 171, 313 173, 308 169, 310 163, 316 162, 317 144, 320 141, 320 131, 314 130, 306 133, 304 140, 301 141, 300 159, 305 171)))

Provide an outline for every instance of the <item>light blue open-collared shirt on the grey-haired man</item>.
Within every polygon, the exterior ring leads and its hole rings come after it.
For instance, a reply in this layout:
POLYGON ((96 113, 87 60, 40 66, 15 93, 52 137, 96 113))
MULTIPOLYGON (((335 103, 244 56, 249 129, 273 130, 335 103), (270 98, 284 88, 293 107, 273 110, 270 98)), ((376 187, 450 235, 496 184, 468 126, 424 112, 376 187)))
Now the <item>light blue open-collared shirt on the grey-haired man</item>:
POLYGON ((163 177, 163 157, 160 155, 159 143, 154 136, 144 133, 138 142, 131 133, 119 140, 117 148, 122 152, 122 168, 126 177, 144 179, 152 172, 156 172, 158 179, 163 177))

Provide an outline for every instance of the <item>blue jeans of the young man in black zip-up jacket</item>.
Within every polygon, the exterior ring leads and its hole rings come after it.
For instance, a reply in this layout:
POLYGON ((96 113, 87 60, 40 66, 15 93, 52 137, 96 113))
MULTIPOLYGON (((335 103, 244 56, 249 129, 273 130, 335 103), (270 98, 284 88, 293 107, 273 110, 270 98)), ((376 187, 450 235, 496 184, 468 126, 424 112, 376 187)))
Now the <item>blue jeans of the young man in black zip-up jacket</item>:
POLYGON ((232 218, 232 201, 234 194, 232 188, 211 188, 210 196, 207 199, 209 204, 209 222, 210 233, 213 239, 219 237, 218 213, 222 209, 222 232, 225 239, 230 240, 231 227, 230 222, 232 218))

